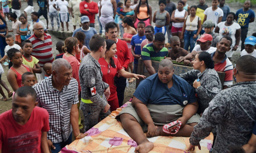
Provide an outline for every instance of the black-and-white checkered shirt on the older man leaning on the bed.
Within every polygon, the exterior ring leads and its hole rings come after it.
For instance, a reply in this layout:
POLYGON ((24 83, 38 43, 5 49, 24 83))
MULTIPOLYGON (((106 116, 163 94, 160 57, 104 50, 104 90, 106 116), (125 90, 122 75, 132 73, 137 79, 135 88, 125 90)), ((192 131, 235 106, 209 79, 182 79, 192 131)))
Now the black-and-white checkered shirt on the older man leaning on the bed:
POLYGON ((62 91, 52 85, 52 76, 33 86, 37 92, 38 106, 49 113, 50 131, 47 138, 53 143, 66 141, 72 132, 70 111, 72 104, 79 103, 78 83, 72 78, 62 91))

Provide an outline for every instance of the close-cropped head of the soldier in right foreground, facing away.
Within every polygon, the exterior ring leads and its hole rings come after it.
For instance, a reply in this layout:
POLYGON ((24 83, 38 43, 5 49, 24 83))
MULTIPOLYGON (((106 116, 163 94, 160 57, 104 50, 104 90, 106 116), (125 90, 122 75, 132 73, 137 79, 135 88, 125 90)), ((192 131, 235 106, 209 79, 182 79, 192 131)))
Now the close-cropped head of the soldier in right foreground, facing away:
POLYGON ((247 75, 256 75, 256 58, 251 55, 244 55, 237 60, 236 67, 238 73, 242 72, 247 75))

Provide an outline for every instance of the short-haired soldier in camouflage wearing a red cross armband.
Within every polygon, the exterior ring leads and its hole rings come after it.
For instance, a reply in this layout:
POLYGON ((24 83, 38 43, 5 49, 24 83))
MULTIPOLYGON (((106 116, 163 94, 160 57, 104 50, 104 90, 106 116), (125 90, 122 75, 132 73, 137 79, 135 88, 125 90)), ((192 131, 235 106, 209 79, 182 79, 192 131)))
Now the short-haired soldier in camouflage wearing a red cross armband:
POLYGON ((110 114, 110 105, 107 101, 110 89, 109 85, 102 81, 102 72, 98 62, 106 51, 105 39, 96 34, 91 38, 89 46, 91 53, 83 58, 79 68, 85 132, 96 125, 99 118, 104 119, 110 114))

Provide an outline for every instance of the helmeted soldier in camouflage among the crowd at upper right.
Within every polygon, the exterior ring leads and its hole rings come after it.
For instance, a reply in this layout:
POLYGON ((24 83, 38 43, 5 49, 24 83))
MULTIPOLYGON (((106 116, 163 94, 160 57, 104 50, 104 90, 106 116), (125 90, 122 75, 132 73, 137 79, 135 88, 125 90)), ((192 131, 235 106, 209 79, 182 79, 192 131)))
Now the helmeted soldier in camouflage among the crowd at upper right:
POLYGON ((213 32, 214 27, 215 23, 213 23, 212 20, 206 20, 203 22, 203 28, 205 33, 212 35, 211 47, 216 47, 217 43, 222 38, 218 33, 213 32))

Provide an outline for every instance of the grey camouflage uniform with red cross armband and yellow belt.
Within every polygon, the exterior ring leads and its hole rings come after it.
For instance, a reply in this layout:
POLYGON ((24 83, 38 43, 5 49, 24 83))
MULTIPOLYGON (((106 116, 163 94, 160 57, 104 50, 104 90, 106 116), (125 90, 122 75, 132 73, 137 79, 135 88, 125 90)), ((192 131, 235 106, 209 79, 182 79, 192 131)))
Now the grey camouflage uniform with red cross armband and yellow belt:
POLYGON ((84 130, 87 131, 110 114, 110 110, 103 113, 108 103, 104 96, 104 89, 109 85, 102 81, 99 62, 90 54, 85 56, 79 68, 81 84, 81 108, 84 114, 84 130))

